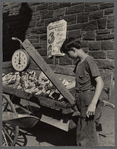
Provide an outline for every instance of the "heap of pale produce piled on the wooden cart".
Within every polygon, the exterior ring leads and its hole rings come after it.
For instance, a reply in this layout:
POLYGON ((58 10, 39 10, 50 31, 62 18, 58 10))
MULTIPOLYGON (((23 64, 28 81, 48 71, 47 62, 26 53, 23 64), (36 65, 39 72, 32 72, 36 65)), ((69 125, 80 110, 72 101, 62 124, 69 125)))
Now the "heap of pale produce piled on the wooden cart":
MULTIPOLYGON (((61 80, 61 79, 60 79, 61 80)), ((13 88, 23 90, 25 92, 49 97, 55 100, 66 101, 51 81, 43 72, 37 76, 35 71, 10 72, 2 74, 3 84, 12 85, 13 88)), ((63 85, 68 85, 67 80, 62 81, 63 85)))

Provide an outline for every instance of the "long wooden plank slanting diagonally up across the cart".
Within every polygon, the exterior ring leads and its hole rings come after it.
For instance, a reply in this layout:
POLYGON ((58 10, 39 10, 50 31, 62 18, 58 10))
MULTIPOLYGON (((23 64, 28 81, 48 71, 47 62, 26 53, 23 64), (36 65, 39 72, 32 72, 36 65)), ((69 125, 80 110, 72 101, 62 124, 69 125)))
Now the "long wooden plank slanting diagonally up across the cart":
MULTIPOLYGON (((56 78, 52 69, 47 65, 41 55, 37 52, 37 50, 33 47, 33 45, 29 42, 29 40, 25 40, 23 42, 23 47, 26 49, 31 58, 35 61, 35 63, 41 68, 44 74, 50 79, 50 81, 56 86, 56 88, 60 91, 60 93, 70 102, 71 105, 75 104, 75 98, 72 94, 64 87, 64 85, 56 78)), ((77 111, 76 107, 75 110, 77 111)))

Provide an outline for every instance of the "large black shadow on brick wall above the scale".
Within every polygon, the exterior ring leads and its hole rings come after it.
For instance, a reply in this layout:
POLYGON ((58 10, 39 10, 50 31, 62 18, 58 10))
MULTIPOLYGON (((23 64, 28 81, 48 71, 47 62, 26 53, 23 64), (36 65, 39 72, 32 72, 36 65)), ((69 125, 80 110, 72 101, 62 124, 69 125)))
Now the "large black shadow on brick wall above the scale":
POLYGON ((3 13, 3 61, 11 61, 14 51, 20 48, 19 42, 11 38, 17 37, 24 41, 31 18, 32 10, 28 3, 21 3, 18 15, 3 13))

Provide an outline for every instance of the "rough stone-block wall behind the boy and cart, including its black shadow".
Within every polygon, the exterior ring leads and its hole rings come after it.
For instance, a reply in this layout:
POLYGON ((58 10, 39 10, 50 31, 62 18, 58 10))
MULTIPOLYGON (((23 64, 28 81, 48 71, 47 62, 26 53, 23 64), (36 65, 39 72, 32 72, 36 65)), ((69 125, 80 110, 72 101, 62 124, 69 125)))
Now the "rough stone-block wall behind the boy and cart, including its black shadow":
MULTIPOLYGON (((64 19, 67 21, 67 37, 81 40, 82 48, 96 59, 104 73, 114 71, 114 3, 3 3, 3 60, 11 60, 13 52, 20 48, 15 36, 27 38, 47 58, 47 25, 64 19)), ((56 64, 74 66, 67 56, 57 58, 56 64)))

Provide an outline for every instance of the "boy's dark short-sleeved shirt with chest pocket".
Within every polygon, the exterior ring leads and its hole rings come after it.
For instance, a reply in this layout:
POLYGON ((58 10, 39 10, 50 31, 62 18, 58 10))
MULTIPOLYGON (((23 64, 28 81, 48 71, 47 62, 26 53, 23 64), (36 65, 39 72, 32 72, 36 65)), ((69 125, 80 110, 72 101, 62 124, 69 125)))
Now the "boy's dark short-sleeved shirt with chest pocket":
POLYGON ((76 74, 76 90, 95 90, 95 78, 100 76, 100 72, 93 57, 87 56, 81 64, 77 62, 74 73, 76 74))

